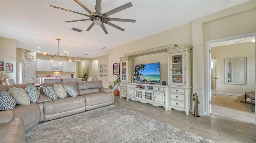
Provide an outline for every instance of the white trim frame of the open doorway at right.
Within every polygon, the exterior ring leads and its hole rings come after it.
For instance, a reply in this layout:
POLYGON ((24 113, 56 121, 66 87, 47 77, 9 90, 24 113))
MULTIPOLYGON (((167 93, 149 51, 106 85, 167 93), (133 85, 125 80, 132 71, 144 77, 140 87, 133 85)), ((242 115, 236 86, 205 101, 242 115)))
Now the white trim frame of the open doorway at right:
MULTIPOLYGON (((255 39, 255 35, 256 35, 256 32, 243 34, 243 35, 237 35, 237 36, 233 36, 233 37, 226 37, 226 38, 222 38, 222 39, 215 39, 215 40, 211 40, 211 41, 206 41, 206 75, 209 75, 209 78, 206 78, 206 112, 205 112, 206 115, 209 115, 212 110, 211 102, 210 102, 211 101, 211 91, 213 91, 212 90, 212 84, 213 84, 212 80, 214 80, 212 78, 216 78, 216 85, 217 85, 216 88, 217 89, 218 89, 218 80, 219 80, 217 76, 212 77, 212 74, 211 74, 211 72, 212 72, 211 64, 213 64, 212 60, 211 60, 212 45, 214 45, 215 43, 224 42, 224 41, 237 40, 237 39, 242 39, 242 38, 248 39, 248 37, 254 37, 254 39, 255 39), (209 102, 207 102, 207 101, 209 101, 209 102)), ((255 43, 254 43, 254 49, 255 49, 255 43)), ((228 53, 227 53, 227 55, 228 55, 228 53)), ((255 53, 254 53, 254 57, 255 57, 255 53)), ((254 63, 255 63, 255 61, 254 61, 254 63)), ((255 69, 253 71, 255 71, 255 69)), ((216 72, 216 73, 218 73, 218 72, 216 72)), ((222 74, 222 76, 223 75, 224 75, 224 73, 222 74)), ((254 76, 254 78, 255 78, 255 76, 254 76)), ((224 82, 224 81, 219 81, 219 82, 224 82)), ((255 90, 255 83, 254 83, 254 90, 255 90)), ((218 95, 218 90, 216 90, 216 92, 214 94, 218 95)), ((254 120, 254 122, 255 122, 255 120, 254 120)))

